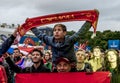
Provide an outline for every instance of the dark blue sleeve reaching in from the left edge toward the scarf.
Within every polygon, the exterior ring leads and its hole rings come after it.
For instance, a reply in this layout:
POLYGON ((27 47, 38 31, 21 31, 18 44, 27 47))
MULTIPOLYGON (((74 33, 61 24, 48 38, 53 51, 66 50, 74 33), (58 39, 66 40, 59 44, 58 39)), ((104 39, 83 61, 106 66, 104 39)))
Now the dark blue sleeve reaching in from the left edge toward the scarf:
POLYGON ((10 48, 12 43, 14 42, 15 37, 11 35, 1 46, 0 46, 0 57, 2 54, 7 52, 7 50, 10 48))

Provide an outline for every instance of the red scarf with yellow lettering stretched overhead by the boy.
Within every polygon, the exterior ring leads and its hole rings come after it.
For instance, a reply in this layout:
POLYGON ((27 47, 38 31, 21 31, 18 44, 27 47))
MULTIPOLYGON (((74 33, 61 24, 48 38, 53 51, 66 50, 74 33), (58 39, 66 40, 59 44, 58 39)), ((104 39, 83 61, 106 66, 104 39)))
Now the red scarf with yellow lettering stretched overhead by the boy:
POLYGON ((27 18, 26 22, 19 27, 19 34, 23 36, 31 28, 38 27, 41 25, 68 21, 89 21, 92 23, 95 32, 98 16, 99 12, 98 10, 95 9, 86 11, 57 13, 34 18, 27 18))

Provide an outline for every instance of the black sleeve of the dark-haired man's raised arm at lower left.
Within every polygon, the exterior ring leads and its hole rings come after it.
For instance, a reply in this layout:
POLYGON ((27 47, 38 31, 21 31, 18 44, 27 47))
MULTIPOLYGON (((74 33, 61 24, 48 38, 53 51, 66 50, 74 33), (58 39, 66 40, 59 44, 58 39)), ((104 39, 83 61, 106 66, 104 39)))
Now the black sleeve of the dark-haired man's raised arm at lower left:
POLYGON ((17 65, 15 65, 15 63, 11 60, 10 57, 6 58, 6 62, 10 66, 10 69, 13 70, 14 72, 21 73, 23 71, 22 68, 20 68, 17 65))

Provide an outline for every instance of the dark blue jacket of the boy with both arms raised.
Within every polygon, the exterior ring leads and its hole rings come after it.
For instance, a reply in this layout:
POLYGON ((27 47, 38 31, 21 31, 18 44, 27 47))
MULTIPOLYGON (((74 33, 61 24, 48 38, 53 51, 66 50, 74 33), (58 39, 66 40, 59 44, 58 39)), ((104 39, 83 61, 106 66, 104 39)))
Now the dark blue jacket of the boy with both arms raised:
POLYGON ((31 29, 32 32, 44 43, 51 46, 52 49, 52 61, 56 62, 59 57, 66 57, 70 62, 76 62, 76 56, 74 52, 74 44, 80 40, 80 36, 86 33, 91 27, 90 22, 85 22, 81 29, 72 36, 65 36, 64 42, 55 42, 53 36, 47 36, 40 32, 37 28, 31 29))

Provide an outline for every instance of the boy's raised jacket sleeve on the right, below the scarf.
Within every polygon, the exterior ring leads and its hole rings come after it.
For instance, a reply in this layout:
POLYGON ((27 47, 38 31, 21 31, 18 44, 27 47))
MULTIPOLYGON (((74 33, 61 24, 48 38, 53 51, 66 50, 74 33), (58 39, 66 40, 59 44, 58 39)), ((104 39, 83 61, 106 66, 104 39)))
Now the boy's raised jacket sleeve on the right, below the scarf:
POLYGON ((83 36, 85 33, 87 33, 89 31, 89 29, 91 28, 92 24, 88 21, 86 21, 82 27, 78 30, 78 32, 76 32, 75 34, 73 34, 71 36, 71 40, 75 43, 76 41, 78 41, 81 36, 83 36))

